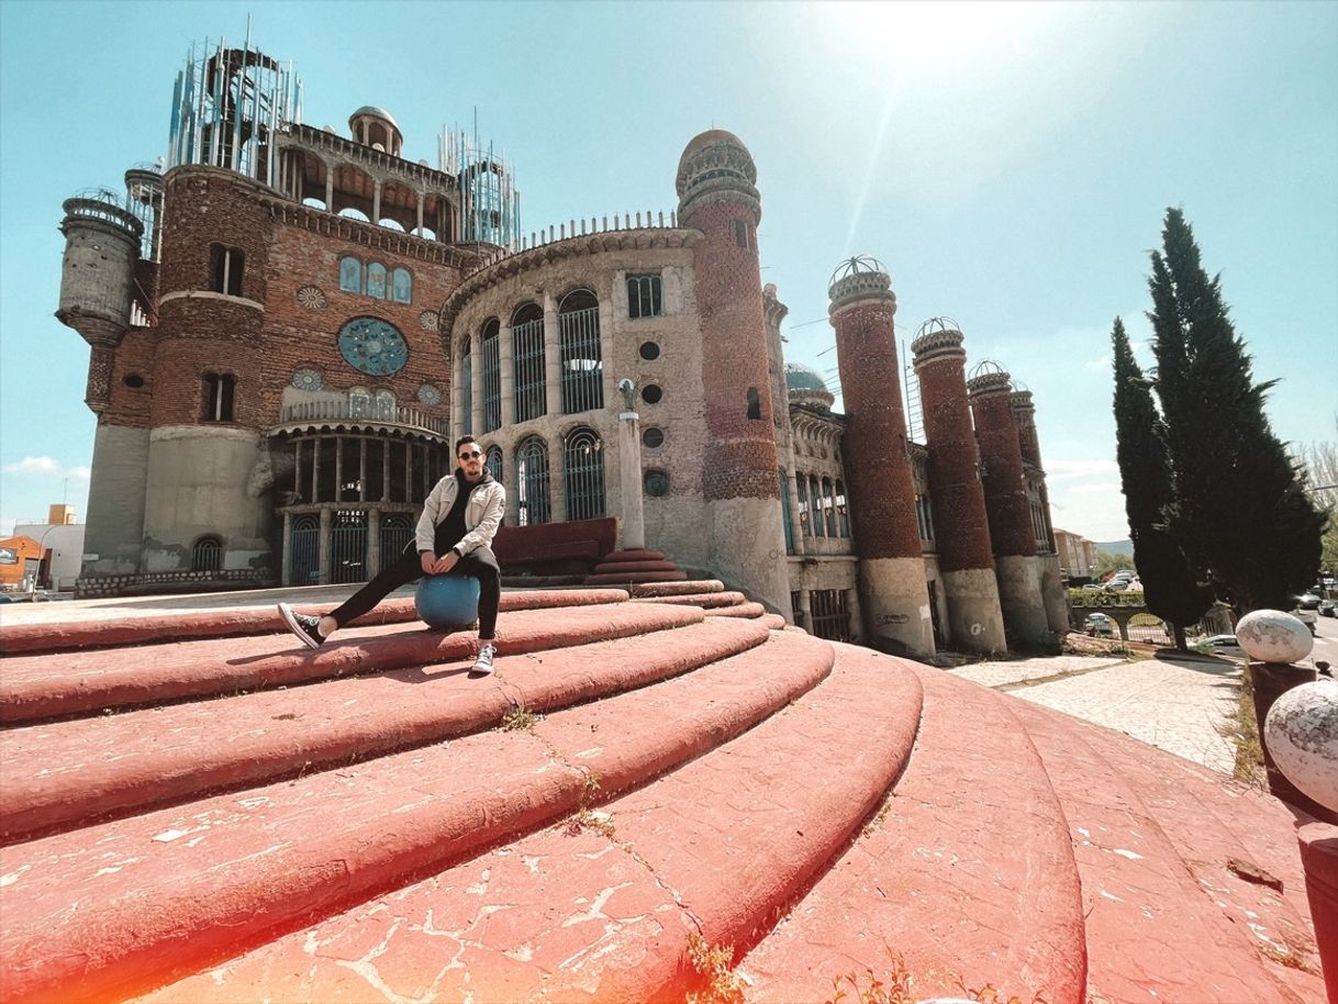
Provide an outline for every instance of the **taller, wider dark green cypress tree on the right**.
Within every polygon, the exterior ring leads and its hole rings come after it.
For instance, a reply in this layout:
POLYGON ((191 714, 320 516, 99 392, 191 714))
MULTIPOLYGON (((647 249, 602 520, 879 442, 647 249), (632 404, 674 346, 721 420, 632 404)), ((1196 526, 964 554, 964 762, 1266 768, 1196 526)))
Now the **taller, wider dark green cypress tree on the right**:
POLYGON ((1184 213, 1168 209, 1152 253, 1156 390, 1172 501, 1167 529, 1199 577, 1238 612, 1291 609, 1319 569, 1323 514, 1272 434, 1250 355, 1203 270, 1184 213))

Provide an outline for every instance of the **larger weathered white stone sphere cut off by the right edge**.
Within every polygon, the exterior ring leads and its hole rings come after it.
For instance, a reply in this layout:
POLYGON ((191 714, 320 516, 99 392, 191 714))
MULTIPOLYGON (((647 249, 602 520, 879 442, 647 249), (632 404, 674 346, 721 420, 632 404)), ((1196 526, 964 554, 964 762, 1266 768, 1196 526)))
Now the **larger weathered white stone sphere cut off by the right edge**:
POLYGON ((1303 683, 1278 697, 1264 739, 1283 776, 1338 813, 1338 680, 1303 683))

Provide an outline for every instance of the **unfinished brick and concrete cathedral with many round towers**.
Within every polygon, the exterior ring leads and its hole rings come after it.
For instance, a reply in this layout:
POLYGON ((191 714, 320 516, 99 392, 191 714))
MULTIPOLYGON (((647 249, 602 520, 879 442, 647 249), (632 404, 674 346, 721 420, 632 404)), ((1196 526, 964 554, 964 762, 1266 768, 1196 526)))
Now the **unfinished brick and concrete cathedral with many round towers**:
POLYGON ((1066 628, 1032 395, 967 373, 947 319, 899 360, 888 273, 856 257, 828 288, 834 412, 784 360, 739 138, 688 143, 674 212, 529 234, 508 162, 438 147, 408 159, 379 107, 304 124, 290 66, 219 43, 178 75, 161 167, 64 203, 56 316, 98 416, 82 596, 363 581, 471 432, 508 526, 614 519, 823 637, 1066 628))

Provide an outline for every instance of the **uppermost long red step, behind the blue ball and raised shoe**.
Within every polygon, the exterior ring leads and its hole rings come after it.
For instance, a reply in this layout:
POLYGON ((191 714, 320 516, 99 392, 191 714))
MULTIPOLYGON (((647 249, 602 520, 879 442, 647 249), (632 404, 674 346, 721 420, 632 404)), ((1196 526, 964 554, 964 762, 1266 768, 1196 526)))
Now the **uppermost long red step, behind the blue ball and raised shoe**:
MULTIPOLYGON (((349 588, 352 593, 353 586, 349 588)), ((622 602, 628 593, 622 589, 527 589, 504 592, 499 610, 547 610, 563 606, 622 602)), ((339 601, 321 605, 300 604, 298 613, 322 614, 339 606, 339 601)), ((375 610, 359 617, 349 626, 373 624, 403 624, 416 621, 417 610, 412 597, 395 597, 381 602, 375 610)), ((151 645, 165 639, 190 641, 195 639, 234 637, 240 635, 274 635, 286 632, 284 618, 274 604, 246 609, 219 609, 203 613, 155 614, 127 617, 122 614, 91 617, 83 621, 56 621, 45 624, 0 625, 0 652, 24 655, 37 652, 64 652, 79 648, 112 648, 116 645, 151 645)))

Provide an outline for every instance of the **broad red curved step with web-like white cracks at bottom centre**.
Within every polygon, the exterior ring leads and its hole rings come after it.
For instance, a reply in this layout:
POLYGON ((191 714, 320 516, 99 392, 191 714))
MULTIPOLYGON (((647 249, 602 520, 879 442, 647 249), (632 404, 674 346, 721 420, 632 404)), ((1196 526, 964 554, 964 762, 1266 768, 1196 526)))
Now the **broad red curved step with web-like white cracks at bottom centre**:
MULTIPOLYGON (((689 714, 674 700, 670 719, 689 714)), ((597 736, 614 719, 603 703, 587 711, 589 723, 563 716, 550 730, 554 716, 535 731, 594 743, 603 758, 597 736)), ((791 707, 602 810, 145 1000, 222 1001, 229 988, 264 987, 274 1001, 681 1001, 689 936, 739 944, 769 928, 900 771, 919 712, 913 673, 844 651, 791 707)), ((610 776, 606 759, 597 770, 610 776)))

